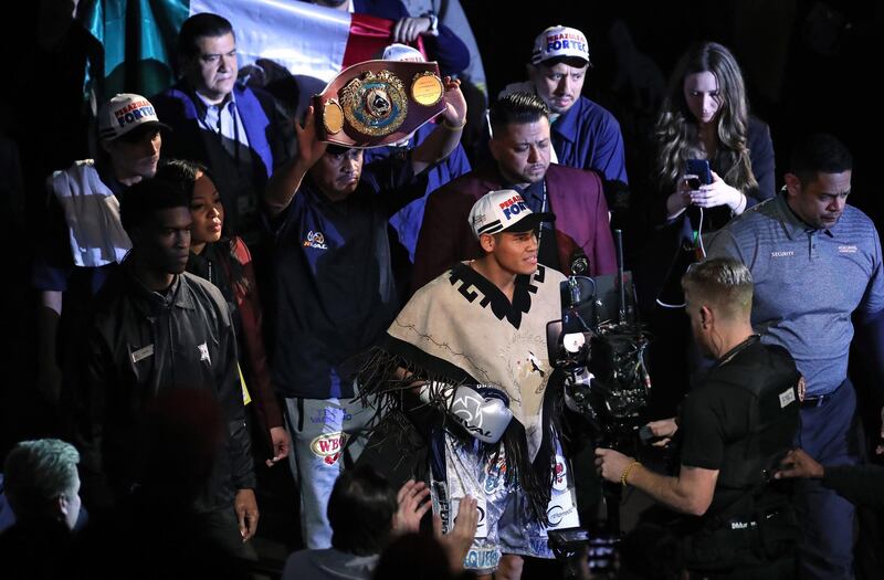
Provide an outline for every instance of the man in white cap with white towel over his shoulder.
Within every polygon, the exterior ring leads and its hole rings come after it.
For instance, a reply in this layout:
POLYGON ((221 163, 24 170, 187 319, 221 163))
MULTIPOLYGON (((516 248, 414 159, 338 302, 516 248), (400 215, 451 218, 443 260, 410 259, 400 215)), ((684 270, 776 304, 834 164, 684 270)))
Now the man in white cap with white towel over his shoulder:
POLYGON ((98 112, 98 158, 48 179, 49 211, 31 283, 40 293, 38 391, 52 404, 59 402, 63 375, 73 376, 74 335, 85 324, 88 303, 131 247, 118 198, 156 172, 160 129, 168 127, 147 98, 116 95, 98 112), (63 347, 57 355, 56 346, 63 347))

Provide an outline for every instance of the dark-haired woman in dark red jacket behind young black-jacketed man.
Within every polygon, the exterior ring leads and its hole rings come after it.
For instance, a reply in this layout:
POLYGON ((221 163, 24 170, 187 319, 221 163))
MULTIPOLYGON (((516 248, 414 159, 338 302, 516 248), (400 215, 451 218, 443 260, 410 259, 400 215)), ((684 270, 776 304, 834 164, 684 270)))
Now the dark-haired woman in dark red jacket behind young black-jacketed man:
POLYGON ((160 167, 156 177, 191 194, 193 224, 187 271, 218 286, 230 306, 239 347, 240 377, 245 386, 243 398, 245 400, 248 392, 252 401, 249 407, 264 434, 265 445, 254 445, 253 452, 263 453, 266 465, 273 466, 288 455, 290 439, 271 384, 252 256, 239 236, 222 236, 224 207, 206 167, 175 159, 160 167))

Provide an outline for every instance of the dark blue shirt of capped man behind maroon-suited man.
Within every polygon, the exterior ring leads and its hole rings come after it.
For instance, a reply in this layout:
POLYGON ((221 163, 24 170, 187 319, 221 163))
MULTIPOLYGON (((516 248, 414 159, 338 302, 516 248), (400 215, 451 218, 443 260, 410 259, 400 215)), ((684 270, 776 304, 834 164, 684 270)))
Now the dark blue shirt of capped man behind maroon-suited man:
POLYGON ((552 122, 550 139, 559 165, 592 169, 607 181, 629 183, 620 124, 604 107, 581 96, 552 122))

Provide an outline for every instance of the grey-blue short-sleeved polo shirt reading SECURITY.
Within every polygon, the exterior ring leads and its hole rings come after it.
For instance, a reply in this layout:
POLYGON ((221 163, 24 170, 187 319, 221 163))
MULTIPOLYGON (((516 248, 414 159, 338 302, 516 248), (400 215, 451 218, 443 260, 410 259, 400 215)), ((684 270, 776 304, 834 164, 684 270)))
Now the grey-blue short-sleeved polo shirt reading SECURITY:
POLYGON ((851 315, 884 309, 881 241, 872 220, 846 205, 829 230, 808 225, 783 193, 711 234, 708 257, 733 256, 755 282, 753 326, 796 359, 809 396, 846 379, 851 315))

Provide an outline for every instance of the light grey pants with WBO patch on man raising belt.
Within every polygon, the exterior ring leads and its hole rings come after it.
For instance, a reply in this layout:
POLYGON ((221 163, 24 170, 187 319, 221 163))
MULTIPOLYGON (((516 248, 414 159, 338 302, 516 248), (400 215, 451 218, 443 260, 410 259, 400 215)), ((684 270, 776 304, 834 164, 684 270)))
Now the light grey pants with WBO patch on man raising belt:
POLYGON ((286 398, 292 436, 288 463, 301 489, 301 534, 311 549, 332 546, 326 508, 332 487, 365 449, 365 430, 373 410, 348 399, 286 398), (344 446, 347 445, 346 452, 344 446))

